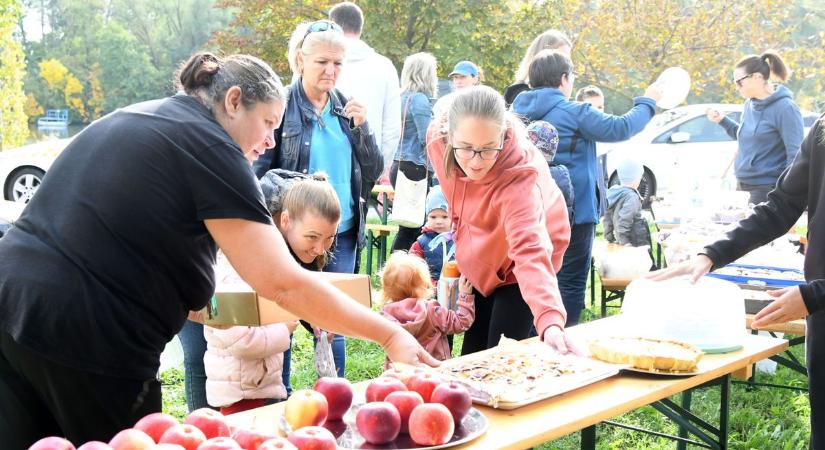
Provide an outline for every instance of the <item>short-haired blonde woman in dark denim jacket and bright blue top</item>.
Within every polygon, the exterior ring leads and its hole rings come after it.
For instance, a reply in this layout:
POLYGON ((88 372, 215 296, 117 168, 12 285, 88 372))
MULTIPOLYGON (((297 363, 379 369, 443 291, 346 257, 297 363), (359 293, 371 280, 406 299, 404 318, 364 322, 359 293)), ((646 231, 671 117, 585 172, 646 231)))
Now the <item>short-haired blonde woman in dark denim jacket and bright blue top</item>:
MULTIPOLYGON (((334 22, 298 25, 289 41, 289 66, 296 76, 289 86, 275 148, 255 164, 263 176, 270 169, 326 172, 341 202, 341 221, 326 272, 354 273, 356 254, 364 246, 366 203, 384 169, 383 156, 367 125, 364 106, 335 89, 347 41, 334 22)), ((333 340, 338 375, 344 376, 345 343, 333 340)))

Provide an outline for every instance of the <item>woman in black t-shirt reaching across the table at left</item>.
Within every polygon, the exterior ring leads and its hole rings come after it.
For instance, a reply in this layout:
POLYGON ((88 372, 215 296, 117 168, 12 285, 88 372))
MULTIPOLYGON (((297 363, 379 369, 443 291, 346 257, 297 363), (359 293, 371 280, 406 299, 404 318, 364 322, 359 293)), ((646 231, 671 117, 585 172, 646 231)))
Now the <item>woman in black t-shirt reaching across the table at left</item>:
POLYGON ((435 364, 407 332, 289 257, 251 162, 284 88, 264 62, 200 53, 186 95, 119 109, 63 151, 0 239, 0 436, 108 441, 161 408, 160 353, 215 288, 220 247, 264 297, 394 360, 435 364))

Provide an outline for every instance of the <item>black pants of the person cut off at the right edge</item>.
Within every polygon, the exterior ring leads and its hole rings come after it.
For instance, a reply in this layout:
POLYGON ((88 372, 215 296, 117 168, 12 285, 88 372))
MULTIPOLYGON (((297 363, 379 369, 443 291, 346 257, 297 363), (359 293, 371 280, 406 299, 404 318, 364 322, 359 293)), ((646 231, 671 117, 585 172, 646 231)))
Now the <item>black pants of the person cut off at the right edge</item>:
POLYGON ((811 450, 825 450, 825 311, 807 319, 805 335, 808 397, 811 402, 811 450))

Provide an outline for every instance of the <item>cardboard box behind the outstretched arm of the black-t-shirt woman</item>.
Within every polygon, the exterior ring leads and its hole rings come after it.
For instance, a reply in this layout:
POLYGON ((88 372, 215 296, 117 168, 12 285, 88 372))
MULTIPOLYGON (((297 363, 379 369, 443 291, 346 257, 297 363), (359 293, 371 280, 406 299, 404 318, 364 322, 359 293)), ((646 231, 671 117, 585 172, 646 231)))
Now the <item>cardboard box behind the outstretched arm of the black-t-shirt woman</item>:
MULTIPOLYGON (((329 281, 358 303, 368 308, 372 307, 372 292, 368 275, 326 272, 319 272, 317 275, 318 278, 329 281)), ((274 301, 258 295, 234 273, 219 275, 215 295, 212 296, 210 305, 189 314, 189 320, 211 326, 258 326, 297 319, 297 316, 281 308, 274 301)))

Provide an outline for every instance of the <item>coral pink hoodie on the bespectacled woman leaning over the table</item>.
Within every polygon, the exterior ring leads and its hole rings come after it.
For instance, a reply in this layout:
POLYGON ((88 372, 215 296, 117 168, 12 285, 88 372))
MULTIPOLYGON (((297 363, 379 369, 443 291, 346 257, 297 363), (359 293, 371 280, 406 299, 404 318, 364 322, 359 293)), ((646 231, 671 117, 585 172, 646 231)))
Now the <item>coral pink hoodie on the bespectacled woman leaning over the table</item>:
POLYGON ((442 127, 430 125, 427 153, 450 205, 461 273, 485 296, 518 283, 539 336, 550 325, 564 328, 567 313, 556 274, 570 242, 570 222, 547 162, 508 128, 504 150, 484 178, 473 181, 457 166, 448 175, 442 127))

